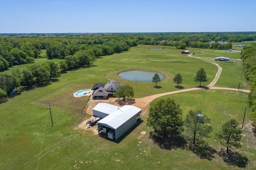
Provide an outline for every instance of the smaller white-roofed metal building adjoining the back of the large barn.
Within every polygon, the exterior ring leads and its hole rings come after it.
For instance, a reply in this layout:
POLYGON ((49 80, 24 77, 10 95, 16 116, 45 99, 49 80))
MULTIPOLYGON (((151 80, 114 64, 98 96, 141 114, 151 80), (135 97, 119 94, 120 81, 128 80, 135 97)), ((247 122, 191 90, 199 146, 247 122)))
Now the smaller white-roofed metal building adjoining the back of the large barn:
POLYGON ((95 117, 104 118, 118 110, 118 106, 110 105, 108 103, 98 103, 93 109, 92 113, 95 117))

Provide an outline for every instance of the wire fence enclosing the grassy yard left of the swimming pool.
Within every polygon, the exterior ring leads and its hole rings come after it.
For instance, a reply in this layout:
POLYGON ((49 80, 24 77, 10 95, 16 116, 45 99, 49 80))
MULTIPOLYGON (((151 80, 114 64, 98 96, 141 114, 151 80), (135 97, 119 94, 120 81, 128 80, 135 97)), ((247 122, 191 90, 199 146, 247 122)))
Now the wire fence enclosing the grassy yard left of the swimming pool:
POLYGON ((74 109, 72 107, 67 107, 67 106, 63 106, 63 105, 58 105, 56 103, 49 103, 47 101, 41 101, 40 99, 44 99, 45 97, 48 97, 49 95, 55 93, 56 91, 59 91, 60 89, 70 85, 70 84, 82 84, 82 85, 94 85, 96 83, 83 83, 83 82, 73 82, 73 81, 70 81, 69 83, 59 87, 58 89, 55 89, 54 91, 51 91, 50 93, 47 93, 46 95, 42 96, 42 97, 39 97, 38 99, 36 99, 36 102, 38 103, 42 103, 42 104, 46 104, 46 105, 50 105, 50 106, 53 106, 53 107, 58 107, 58 108, 61 108, 61 109, 66 109, 68 111, 73 111, 73 112, 76 112, 76 113, 82 113, 82 114, 86 114, 86 112, 84 111, 84 108, 86 107, 88 101, 90 100, 90 98, 88 98, 88 100, 84 103, 84 106, 82 107, 82 109, 74 109))

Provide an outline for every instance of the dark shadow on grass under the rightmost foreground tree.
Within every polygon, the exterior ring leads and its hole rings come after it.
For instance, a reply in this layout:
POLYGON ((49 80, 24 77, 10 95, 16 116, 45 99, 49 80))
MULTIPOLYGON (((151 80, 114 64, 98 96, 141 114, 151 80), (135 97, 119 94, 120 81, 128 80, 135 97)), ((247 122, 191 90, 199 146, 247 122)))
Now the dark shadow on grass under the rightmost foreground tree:
POLYGON ((222 157, 224 162, 226 162, 228 165, 246 168, 247 158, 238 152, 232 152, 229 150, 229 154, 227 154, 226 150, 221 149, 220 152, 218 152, 218 155, 222 157))

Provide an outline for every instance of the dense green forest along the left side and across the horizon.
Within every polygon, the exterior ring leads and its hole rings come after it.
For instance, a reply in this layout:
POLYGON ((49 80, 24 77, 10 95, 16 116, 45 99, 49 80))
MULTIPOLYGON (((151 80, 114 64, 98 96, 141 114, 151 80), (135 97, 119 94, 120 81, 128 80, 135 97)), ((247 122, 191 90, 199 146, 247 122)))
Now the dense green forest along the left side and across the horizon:
MULTIPOLYGON (((138 44, 230 49, 232 42, 256 40, 255 32, 213 33, 126 33, 126 34, 21 34, 0 35, 0 71, 12 65, 33 63, 47 57, 60 59, 58 63, 32 64, 23 70, 12 69, 0 75, 0 99, 16 87, 48 82, 60 71, 91 67, 97 58, 128 51, 138 44), (228 42, 221 44, 218 42, 228 42), (46 56, 42 56, 42 49, 46 56)), ((246 52, 244 52, 245 54, 246 52)), ((246 61, 245 61, 246 62, 246 61)), ((253 94, 251 95, 253 96, 253 94)))

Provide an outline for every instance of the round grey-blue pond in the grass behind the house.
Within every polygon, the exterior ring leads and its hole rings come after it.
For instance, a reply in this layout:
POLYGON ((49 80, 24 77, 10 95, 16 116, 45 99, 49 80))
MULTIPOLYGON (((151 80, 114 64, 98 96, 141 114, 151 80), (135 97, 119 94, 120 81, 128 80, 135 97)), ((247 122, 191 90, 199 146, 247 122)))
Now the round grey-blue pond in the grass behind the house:
MULTIPOLYGON (((126 71, 120 73, 120 77, 130 81, 152 81, 152 77, 154 77, 156 73, 148 72, 148 71, 126 71)), ((160 79, 163 79, 164 76, 159 74, 160 79)))

